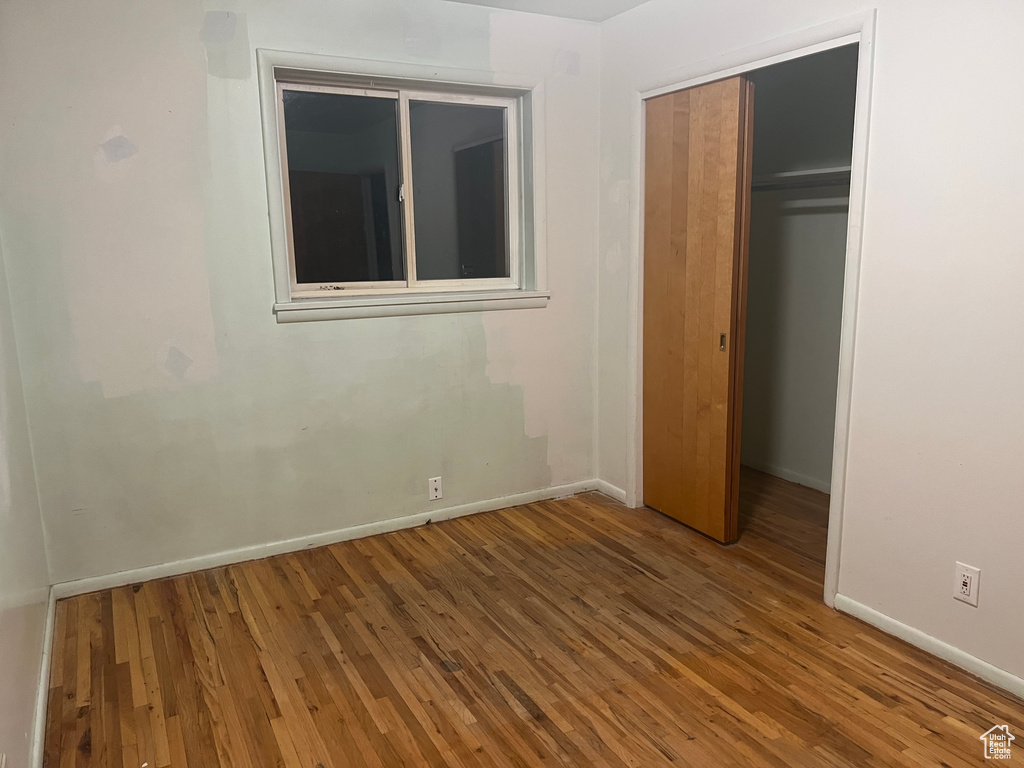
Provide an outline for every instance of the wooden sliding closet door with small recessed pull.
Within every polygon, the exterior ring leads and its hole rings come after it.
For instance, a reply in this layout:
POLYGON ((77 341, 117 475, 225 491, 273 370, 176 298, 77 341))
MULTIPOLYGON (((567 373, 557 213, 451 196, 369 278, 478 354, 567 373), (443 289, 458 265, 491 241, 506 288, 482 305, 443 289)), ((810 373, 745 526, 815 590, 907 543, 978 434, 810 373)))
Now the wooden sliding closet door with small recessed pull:
POLYGON ((737 537, 754 86, 648 99, 643 501, 737 537))

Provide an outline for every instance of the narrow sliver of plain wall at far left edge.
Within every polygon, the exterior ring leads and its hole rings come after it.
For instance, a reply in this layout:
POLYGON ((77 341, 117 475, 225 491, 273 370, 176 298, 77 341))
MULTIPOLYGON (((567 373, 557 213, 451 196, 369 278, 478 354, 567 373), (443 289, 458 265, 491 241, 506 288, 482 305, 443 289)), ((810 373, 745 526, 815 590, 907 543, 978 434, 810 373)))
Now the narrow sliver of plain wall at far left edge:
POLYGON ((29 764, 49 584, 0 253, 0 753, 9 766, 29 764))

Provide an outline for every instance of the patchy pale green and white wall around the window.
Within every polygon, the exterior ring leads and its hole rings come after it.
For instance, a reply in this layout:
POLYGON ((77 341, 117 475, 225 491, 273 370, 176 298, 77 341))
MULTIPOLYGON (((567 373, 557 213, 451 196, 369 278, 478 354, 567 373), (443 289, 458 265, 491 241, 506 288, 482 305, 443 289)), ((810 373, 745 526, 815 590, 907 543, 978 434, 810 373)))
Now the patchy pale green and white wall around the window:
POLYGON ((438 0, 2 13, 0 227, 55 582, 594 476, 596 27, 438 0), (276 325, 257 47, 543 81, 549 306, 276 325))

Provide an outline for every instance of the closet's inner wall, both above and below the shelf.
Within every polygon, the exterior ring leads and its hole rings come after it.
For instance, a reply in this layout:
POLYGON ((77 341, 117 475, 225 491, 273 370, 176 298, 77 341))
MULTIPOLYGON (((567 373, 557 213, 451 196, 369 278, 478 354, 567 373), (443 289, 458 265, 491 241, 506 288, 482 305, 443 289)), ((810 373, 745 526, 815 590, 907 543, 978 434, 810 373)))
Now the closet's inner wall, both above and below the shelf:
MULTIPOLYGON (((849 166, 857 48, 753 74, 754 176, 849 166)), ((828 492, 848 187, 751 200, 742 463, 828 492)))

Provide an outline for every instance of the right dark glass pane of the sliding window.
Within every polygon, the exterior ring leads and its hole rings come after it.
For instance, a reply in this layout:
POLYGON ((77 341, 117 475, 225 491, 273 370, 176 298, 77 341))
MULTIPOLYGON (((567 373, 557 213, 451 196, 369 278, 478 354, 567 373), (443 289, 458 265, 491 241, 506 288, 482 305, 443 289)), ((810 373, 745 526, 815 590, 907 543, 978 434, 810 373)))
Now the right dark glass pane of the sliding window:
POLYGON ((505 110, 412 101, 416 274, 509 276, 505 110))

